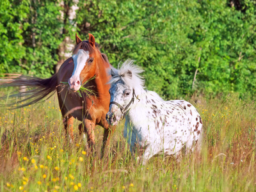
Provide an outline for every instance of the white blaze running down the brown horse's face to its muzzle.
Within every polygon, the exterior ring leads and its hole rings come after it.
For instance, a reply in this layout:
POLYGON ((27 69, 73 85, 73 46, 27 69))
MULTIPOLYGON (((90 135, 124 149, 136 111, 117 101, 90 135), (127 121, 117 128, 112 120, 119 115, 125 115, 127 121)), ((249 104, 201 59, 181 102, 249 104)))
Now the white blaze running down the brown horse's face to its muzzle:
POLYGON ((78 91, 81 88, 80 74, 86 65, 86 61, 90 58, 89 52, 79 49, 77 54, 72 56, 74 62, 74 71, 72 76, 68 79, 70 90, 78 91))

